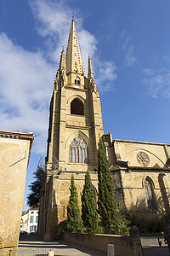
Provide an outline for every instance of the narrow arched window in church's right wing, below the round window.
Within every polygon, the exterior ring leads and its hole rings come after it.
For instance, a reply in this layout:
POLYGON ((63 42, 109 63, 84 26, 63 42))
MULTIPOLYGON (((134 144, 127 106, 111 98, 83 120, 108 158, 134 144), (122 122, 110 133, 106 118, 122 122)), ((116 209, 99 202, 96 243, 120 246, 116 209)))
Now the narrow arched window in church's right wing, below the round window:
POLYGON ((146 195, 146 199, 148 202, 148 207, 150 211, 156 210, 156 199, 154 195, 154 190, 153 190, 153 184, 151 183, 151 180, 149 177, 146 177, 144 180, 144 191, 146 195))

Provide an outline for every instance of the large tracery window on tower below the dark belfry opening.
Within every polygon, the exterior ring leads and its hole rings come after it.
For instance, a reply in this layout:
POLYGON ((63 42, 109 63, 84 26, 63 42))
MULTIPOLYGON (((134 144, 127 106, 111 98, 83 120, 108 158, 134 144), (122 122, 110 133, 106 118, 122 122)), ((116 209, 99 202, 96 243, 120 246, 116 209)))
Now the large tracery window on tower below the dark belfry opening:
POLYGON ((75 137, 69 150, 70 162, 88 163, 88 147, 81 137, 75 137))

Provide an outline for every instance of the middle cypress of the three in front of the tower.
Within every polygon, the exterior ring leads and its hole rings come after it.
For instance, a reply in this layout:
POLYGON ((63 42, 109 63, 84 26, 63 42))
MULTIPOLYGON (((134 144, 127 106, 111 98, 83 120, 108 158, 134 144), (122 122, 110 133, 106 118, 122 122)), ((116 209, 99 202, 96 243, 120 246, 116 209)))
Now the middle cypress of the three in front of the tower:
POLYGON ((89 233, 94 233, 98 228, 98 212, 94 201, 94 189, 89 172, 85 176, 85 184, 82 190, 82 221, 89 233))

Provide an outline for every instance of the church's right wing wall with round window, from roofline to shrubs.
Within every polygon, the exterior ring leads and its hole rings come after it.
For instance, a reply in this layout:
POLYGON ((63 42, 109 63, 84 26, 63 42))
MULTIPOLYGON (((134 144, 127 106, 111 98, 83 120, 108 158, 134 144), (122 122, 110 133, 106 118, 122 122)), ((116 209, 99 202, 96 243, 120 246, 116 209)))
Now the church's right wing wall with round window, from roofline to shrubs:
POLYGON ((169 214, 170 162, 169 145, 138 141, 113 140, 105 136, 111 163, 117 203, 122 211, 144 218, 169 214), (155 209, 150 209, 145 181, 150 181, 155 209))

